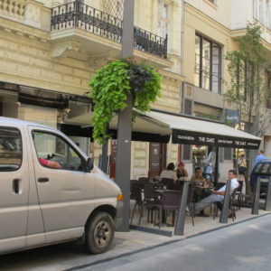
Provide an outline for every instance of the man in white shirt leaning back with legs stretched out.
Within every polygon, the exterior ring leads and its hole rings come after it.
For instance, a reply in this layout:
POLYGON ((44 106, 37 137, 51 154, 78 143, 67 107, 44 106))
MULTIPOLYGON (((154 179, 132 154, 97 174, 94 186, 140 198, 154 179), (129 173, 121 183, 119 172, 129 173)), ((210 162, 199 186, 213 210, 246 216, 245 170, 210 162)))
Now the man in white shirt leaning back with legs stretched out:
MULTIPOLYGON (((237 172, 236 170, 229 170, 229 180, 230 182, 230 193, 232 193, 239 186, 239 182, 237 180, 237 172)), ((210 203, 215 201, 223 201, 224 195, 226 192, 226 184, 220 188, 218 191, 213 191, 210 196, 202 199, 201 201, 195 204, 196 214, 203 210, 205 207, 209 206, 210 203)))

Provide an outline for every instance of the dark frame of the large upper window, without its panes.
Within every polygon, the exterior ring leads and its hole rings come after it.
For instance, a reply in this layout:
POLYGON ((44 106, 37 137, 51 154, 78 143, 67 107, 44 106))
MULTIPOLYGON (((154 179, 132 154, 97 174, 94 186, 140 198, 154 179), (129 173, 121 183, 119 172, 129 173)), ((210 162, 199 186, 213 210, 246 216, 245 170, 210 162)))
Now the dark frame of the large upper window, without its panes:
MULTIPOLYGON (((202 75, 204 72, 203 70, 203 66, 202 66, 202 62, 203 62, 203 40, 206 42, 210 42, 210 70, 209 70, 209 89, 210 91, 213 91, 213 83, 215 82, 213 80, 214 77, 218 78, 218 91, 214 92, 214 93, 218 93, 221 94, 221 61, 222 61, 222 47, 220 46, 220 44, 218 42, 212 42, 210 39, 206 38, 205 36, 201 35, 201 33, 196 33, 195 34, 195 38, 199 37, 200 38, 200 67, 199 67, 199 73, 196 72, 196 67, 197 67, 197 55, 196 55, 196 47, 195 47, 195 69, 194 69, 194 74, 197 75, 198 77, 198 81, 199 81, 199 85, 197 87, 201 88, 201 89, 205 89, 202 87, 202 75), (219 49, 219 68, 218 68, 218 76, 214 75, 213 73, 213 48, 214 48, 214 44, 218 46, 219 49)), ((195 82, 195 79, 194 79, 195 82)))

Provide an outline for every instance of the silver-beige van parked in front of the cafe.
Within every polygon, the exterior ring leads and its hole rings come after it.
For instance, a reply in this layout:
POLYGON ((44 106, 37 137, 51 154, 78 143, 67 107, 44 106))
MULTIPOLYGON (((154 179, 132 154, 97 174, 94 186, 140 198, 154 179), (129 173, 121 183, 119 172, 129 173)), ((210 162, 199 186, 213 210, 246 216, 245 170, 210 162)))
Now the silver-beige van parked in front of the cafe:
POLYGON ((69 137, 0 117, 0 254, 82 238, 107 251, 123 196, 69 137))

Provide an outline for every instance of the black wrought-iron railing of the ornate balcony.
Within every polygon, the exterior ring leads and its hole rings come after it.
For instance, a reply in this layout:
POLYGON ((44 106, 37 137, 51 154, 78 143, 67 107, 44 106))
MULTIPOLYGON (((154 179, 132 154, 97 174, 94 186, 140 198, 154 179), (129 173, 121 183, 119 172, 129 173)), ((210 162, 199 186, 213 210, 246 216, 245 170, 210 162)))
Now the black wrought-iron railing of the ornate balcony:
MULTIPOLYGON (((51 8, 51 31, 80 28, 107 39, 122 42, 123 22, 89 5, 75 1, 51 8)), ((134 45, 140 51, 166 59, 167 37, 164 39, 138 27, 134 27, 134 45)))

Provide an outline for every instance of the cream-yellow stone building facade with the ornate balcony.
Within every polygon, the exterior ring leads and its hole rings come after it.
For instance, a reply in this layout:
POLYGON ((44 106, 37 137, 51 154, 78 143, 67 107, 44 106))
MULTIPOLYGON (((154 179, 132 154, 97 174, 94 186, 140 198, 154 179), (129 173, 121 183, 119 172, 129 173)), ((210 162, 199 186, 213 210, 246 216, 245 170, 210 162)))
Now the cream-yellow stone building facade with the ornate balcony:
MULTIPOLYGON (((173 112, 181 110, 181 7, 177 0, 135 0, 134 55, 163 77, 163 97, 153 107, 173 112)), ((123 0, 0 0, 1 115, 68 131, 98 164, 101 146, 88 134, 88 82, 120 57, 122 16, 123 0)), ((109 145, 114 175, 116 140, 109 145)), ((156 164, 150 148, 164 155, 158 171, 177 161, 178 146, 133 142, 131 178, 148 175, 156 164)))

